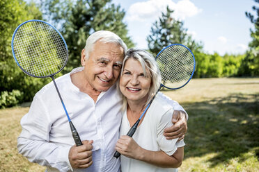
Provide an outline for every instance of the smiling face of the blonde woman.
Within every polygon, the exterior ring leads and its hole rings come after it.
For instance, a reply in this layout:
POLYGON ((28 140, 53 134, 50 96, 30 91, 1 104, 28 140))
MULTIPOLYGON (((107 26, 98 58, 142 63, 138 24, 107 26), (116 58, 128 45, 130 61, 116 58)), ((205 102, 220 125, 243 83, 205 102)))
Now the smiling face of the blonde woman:
POLYGON ((151 86, 151 76, 144 76, 141 63, 133 58, 125 62, 123 75, 120 78, 120 91, 127 98, 127 101, 146 103, 148 92, 151 86))

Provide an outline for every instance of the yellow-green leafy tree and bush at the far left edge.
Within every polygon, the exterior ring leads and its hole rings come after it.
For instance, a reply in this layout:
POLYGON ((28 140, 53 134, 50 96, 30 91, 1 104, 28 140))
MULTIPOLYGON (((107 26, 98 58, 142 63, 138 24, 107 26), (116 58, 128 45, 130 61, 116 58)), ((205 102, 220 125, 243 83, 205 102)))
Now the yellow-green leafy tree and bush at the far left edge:
POLYGON ((0 1, 0 107, 31 101, 46 80, 26 76, 17 67, 11 50, 15 28, 29 19, 42 19, 36 4, 22 0, 0 1))

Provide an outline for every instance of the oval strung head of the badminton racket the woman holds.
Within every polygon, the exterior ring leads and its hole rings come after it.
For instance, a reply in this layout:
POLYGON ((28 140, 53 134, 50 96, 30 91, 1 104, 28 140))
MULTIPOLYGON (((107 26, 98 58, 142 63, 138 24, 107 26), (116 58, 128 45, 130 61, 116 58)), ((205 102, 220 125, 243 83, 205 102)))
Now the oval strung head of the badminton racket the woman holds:
POLYGON ((194 76, 196 61, 191 50, 182 44, 171 44, 160 51, 155 60, 162 76, 163 87, 180 89, 194 76))

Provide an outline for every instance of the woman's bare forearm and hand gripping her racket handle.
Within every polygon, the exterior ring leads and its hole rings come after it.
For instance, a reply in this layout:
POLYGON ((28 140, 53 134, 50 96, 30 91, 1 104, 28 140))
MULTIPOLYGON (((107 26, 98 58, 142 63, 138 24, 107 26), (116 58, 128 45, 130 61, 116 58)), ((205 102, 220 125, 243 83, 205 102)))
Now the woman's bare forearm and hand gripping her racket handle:
POLYGON ((123 135, 118 139, 116 150, 126 157, 164 168, 178 168, 181 166, 184 156, 184 147, 178 148, 170 156, 162 150, 152 151, 141 148, 132 137, 127 135, 123 135))

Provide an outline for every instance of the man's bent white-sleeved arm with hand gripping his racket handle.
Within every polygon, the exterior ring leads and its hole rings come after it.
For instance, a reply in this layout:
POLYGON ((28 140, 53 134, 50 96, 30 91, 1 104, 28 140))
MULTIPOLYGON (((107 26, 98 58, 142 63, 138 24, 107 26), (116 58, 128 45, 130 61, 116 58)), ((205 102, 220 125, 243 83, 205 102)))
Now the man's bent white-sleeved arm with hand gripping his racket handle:
POLYGON ((28 114, 21 120, 22 133, 17 138, 19 153, 30 162, 59 171, 72 171, 72 168, 91 166, 93 141, 83 141, 84 145, 78 147, 70 146, 68 143, 62 145, 52 143, 49 140, 52 120, 48 114, 45 103, 35 96, 28 114))

